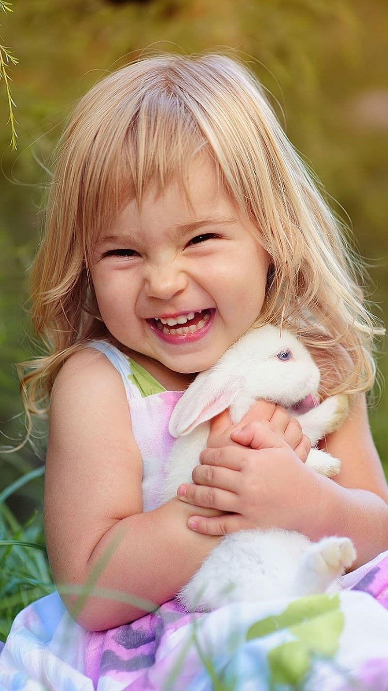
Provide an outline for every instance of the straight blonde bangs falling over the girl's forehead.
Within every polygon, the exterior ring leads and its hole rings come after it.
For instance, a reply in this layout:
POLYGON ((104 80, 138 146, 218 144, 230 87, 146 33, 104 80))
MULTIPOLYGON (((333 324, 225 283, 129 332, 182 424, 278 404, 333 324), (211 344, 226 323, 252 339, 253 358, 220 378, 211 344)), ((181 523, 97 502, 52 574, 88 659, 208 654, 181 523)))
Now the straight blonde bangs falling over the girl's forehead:
MULTIPOLYGON (((133 199, 162 191, 179 180, 187 192, 190 165, 210 146, 192 113, 174 95, 143 98, 136 112, 101 123, 85 158, 81 182, 81 227, 88 259, 92 246, 133 199)), ((213 158, 213 157, 212 157, 213 158)))

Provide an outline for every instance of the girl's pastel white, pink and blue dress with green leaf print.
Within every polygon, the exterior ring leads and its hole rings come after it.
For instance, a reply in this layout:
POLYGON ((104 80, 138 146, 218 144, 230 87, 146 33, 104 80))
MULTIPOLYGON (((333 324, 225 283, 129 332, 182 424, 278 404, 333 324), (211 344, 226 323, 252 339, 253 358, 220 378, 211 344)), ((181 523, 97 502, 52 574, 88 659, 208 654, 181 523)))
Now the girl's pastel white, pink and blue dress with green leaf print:
MULTIPOLYGON (((91 345, 123 380, 150 511, 182 392, 164 390, 109 343, 91 345)), ((0 691, 388 691, 388 552, 343 585, 339 594, 279 594, 209 614, 186 614, 170 600, 101 632, 76 624, 54 592, 15 618, 0 653, 0 691)))

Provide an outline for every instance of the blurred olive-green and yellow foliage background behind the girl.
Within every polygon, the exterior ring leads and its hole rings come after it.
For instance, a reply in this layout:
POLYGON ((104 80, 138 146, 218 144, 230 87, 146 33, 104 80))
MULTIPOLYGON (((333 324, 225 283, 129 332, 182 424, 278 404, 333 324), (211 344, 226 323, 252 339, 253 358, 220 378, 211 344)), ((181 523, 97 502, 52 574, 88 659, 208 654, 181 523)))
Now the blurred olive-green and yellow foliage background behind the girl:
MULTIPOLYGON (((41 226, 45 166, 74 102, 107 71, 144 48, 191 52, 232 48, 272 93, 287 134, 318 174, 337 214, 367 258, 374 311, 387 316, 386 39, 381 0, 15 0, 1 34, 19 58, 12 68, 18 151, 0 82, 0 429, 23 437, 14 363, 30 357, 23 312, 26 274, 41 226), (349 214, 349 216, 347 216, 349 214)), ((385 320, 386 321, 386 320, 385 320)), ((386 343, 378 364, 388 372, 386 343)), ((388 468, 388 402, 370 419, 388 468)), ((7 437, 9 437, 7 439, 7 437)), ((41 463, 31 448, 0 455, 0 491, 41 463)), ((41 504, 41 478, 13 493, 26 520, 41 504)), ((40 514, 38 514, 40 520, 40 514)))

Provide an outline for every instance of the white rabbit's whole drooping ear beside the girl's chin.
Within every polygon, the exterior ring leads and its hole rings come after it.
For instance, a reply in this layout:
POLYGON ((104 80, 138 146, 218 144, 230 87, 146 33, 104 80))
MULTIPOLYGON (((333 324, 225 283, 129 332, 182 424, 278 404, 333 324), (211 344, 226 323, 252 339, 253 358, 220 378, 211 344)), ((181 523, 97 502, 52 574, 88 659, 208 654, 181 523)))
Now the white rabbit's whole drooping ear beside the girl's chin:
POLYGON ((198 375, 172 411, 168 426, 172 437, 189 434, 229 408, 242 386, 243 377, 221 372, 217 377, 198 375))

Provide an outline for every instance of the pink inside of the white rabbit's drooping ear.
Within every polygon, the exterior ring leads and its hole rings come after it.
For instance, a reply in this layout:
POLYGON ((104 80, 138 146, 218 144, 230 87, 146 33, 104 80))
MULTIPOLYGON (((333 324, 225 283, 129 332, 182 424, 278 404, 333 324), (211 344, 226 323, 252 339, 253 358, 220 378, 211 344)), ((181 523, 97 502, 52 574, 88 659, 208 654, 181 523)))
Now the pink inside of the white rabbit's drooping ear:
POLYGON ((229 378, 225 380, 222 386, 212 392, 212 400, 210 400, 210 397, 203 391, 202 406, 198 402, 195 412, 193 410, 190 412, 188 410, 184 412, 181 411, 179 423, 175 426, 174 436, 190 434, 198 425, 201 425, 203 422, 208 422, 213 417, 216 417, 216 415, 223 413, 223 410, 229 408, 240 390, 241 377, 234 377, 233 379, 229 378))

